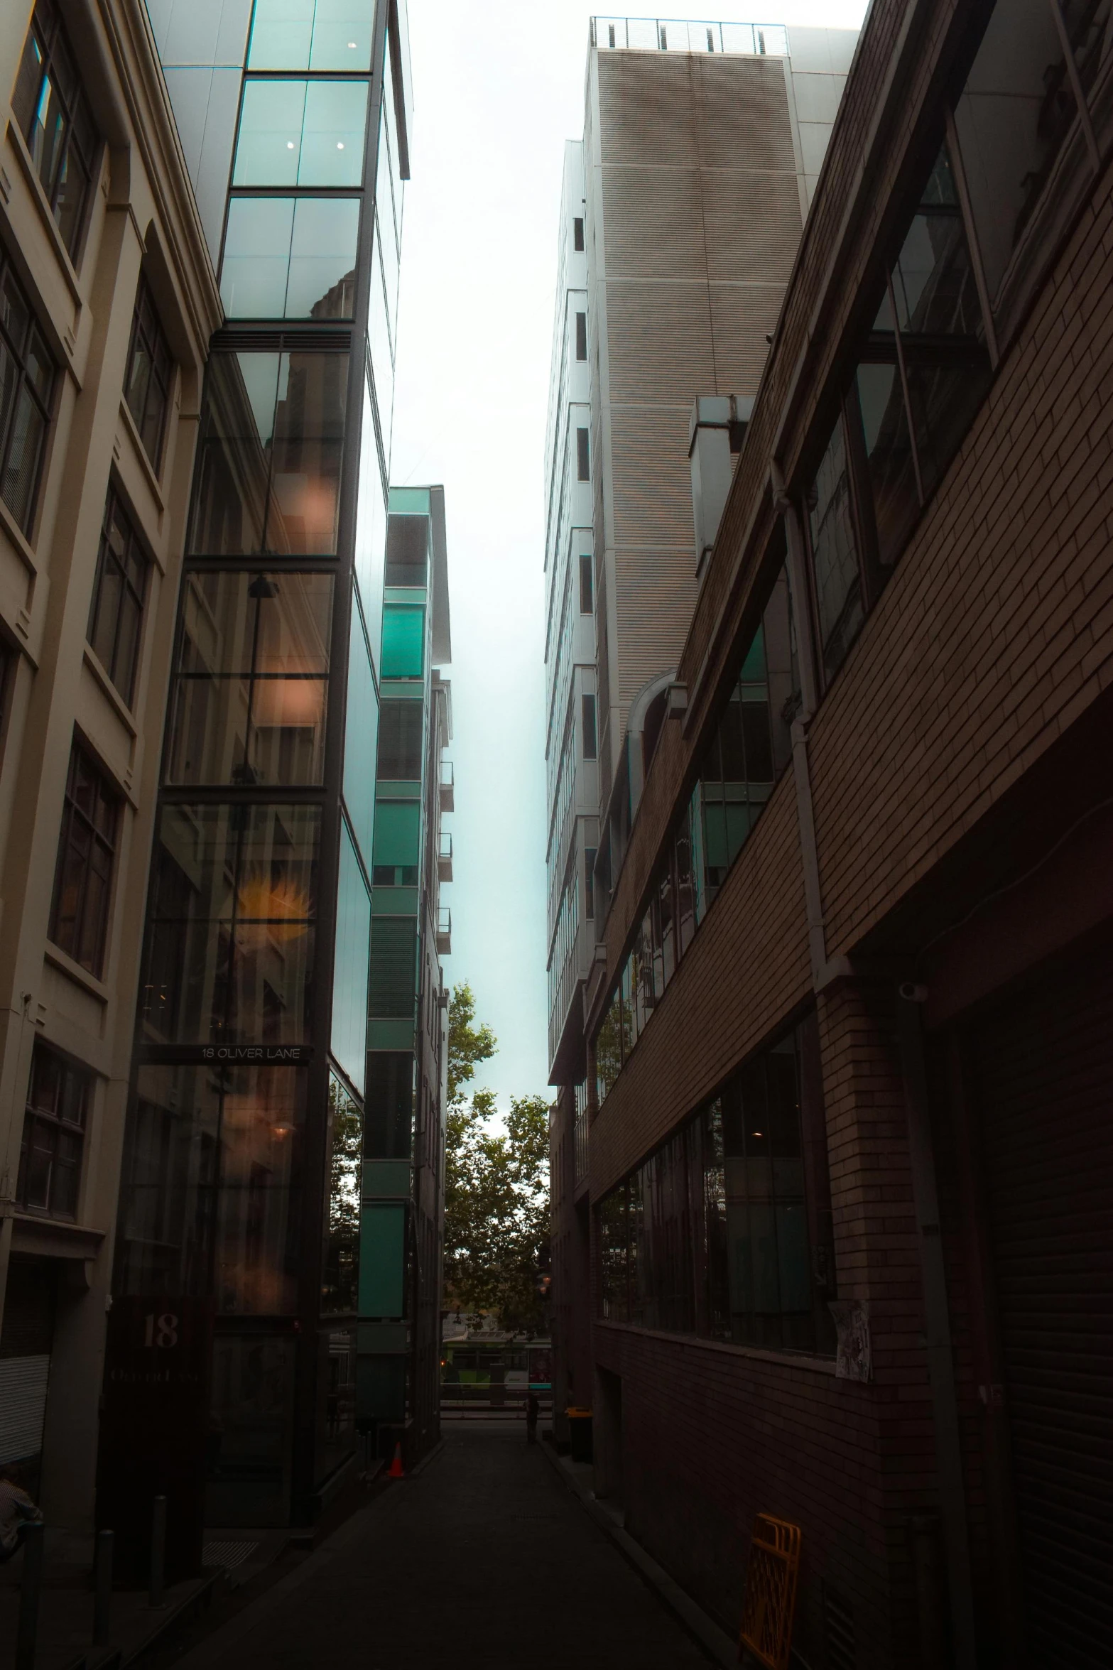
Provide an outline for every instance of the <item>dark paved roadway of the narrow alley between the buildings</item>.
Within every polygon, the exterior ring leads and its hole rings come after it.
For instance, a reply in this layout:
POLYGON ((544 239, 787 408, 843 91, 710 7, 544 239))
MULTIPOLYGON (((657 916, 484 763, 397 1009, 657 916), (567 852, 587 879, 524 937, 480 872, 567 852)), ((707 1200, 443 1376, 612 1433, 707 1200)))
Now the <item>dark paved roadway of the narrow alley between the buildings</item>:
POLYGON ((698 1670, 701 1648, 522 1430, 432 1461, 200 1642, 179 1670, 698 1670))

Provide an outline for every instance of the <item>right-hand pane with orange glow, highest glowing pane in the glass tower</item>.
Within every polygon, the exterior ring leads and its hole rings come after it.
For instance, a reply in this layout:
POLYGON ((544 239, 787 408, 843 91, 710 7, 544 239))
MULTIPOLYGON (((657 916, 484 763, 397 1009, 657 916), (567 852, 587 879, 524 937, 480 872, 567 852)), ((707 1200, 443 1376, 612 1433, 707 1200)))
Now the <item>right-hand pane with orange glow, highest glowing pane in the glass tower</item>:
POLYGON ((265 531, 270 551, 335 551, 347 362, 347 354, 282 354, 265 531))

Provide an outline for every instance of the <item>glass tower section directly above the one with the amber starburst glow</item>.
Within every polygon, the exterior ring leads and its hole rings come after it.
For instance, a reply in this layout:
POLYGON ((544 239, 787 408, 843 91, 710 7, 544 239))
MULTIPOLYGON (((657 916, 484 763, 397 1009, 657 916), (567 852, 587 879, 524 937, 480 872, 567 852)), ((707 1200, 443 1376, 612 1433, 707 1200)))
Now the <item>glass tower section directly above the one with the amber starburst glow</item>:
POLYGON ((180 615, 167 782, 322 782, 332 576, 195 573, 180 615))

